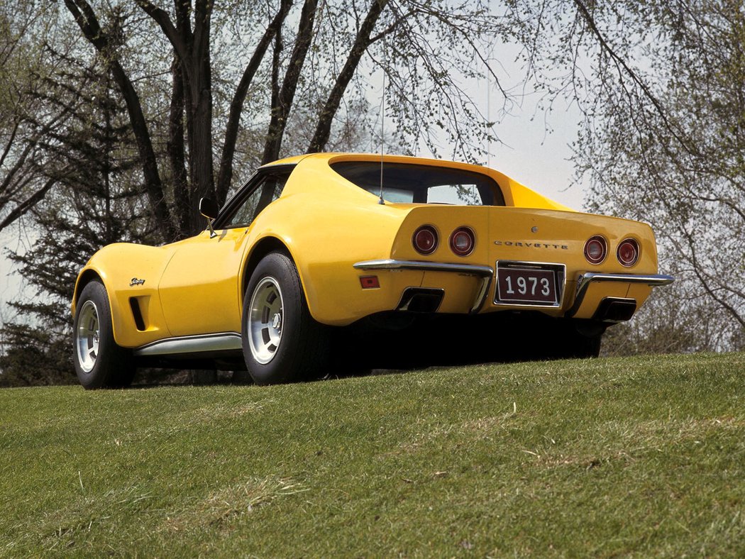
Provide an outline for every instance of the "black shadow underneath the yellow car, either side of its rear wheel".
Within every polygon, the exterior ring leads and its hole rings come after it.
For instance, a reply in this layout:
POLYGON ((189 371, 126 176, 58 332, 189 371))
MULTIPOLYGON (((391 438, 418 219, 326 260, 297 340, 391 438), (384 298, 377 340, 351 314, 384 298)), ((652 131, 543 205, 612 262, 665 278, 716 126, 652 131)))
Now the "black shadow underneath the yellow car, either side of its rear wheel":
MULTIPOLYGON (((502 315, 379 315, 329 328, 323 379, 401 374, 430 367, 544 361, 571 357, 565 323, 530 313, 502 315), (565 347, 566 346, 566 347, 565 347)), ((247 385, 239 361, 222 367, 138 370, 134 385, 247 385)), ((310 379, 315 380, 315 379, 310 379)))

